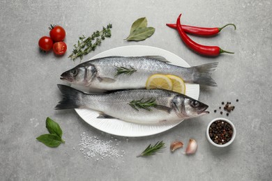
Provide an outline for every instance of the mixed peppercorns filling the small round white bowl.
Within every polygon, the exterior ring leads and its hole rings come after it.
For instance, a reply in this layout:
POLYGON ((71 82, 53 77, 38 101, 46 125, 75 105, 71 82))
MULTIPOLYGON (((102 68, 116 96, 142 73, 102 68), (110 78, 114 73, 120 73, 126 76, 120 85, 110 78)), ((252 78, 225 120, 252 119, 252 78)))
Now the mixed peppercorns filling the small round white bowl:
POLYGON ((209 127, 209 136, 211 140, 219 145, 229 142, 232 139, 232 134, 232 126, 224 120, 216 120, 209 127))

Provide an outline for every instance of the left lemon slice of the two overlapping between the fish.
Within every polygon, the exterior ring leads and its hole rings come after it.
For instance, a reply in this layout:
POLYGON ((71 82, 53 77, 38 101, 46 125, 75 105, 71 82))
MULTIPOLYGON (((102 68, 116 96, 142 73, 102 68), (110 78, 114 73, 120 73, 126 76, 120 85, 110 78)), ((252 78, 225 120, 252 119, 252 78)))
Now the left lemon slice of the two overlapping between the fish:
POLYGON ((172 91, 171 79, 164 74, 153 74, 146 81, 146 89, 160 88, 172 91))

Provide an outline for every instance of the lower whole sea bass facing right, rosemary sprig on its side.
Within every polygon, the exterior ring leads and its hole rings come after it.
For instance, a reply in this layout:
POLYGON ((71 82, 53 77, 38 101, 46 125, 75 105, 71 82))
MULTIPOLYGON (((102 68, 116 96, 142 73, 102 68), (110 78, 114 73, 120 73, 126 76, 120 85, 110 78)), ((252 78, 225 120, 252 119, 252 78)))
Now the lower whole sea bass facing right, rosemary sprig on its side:
POLYGON ((129 123, 176 123, 202 116, 208 106, 186 95, 172 91, 133 89, 93 95, 70 86, 58 85, 63 100, 55 109, 93 109, 98 118, 117 118, 129 123))

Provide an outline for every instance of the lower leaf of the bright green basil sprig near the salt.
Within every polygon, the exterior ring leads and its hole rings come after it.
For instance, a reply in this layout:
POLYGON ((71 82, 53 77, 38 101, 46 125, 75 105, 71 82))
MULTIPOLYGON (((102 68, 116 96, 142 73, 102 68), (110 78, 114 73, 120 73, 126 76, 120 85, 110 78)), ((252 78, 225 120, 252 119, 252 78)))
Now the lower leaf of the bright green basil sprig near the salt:
POLYGON ((61 143, 64 142, 56 134, 42 134, 42 135, 38 136, 36 139, 51 148, 57 147, 61 143))

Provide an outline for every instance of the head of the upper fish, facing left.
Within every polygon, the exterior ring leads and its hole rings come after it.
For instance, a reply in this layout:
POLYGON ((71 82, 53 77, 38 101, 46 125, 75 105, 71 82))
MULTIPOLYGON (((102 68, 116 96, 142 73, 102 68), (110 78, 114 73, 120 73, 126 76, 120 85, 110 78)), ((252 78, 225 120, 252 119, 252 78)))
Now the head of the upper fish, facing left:
POLYGON ((89 86, 96 77, 97 70, 95 65, 77 65, 75 68, 63 72, 61 80, 79 86, 89 86))

